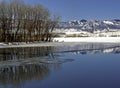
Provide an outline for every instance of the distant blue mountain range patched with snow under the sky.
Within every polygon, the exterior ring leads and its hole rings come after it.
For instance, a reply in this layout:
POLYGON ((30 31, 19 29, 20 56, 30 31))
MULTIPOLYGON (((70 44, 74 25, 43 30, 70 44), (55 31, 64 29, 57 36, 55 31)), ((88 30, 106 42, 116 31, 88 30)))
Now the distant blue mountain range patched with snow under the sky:
POLYGON ((114 20, 72 20, 68 22, 59 22, 57 29, 69 30, 74 29, 76 31, 111 31, 111 30, 120 30, 120 19, 114 20))

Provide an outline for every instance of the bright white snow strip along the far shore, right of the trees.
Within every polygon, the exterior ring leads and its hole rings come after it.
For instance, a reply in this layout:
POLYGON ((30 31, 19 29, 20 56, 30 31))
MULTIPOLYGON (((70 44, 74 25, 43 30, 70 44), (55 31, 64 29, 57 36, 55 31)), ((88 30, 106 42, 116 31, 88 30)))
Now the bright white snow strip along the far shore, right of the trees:
POLYGON ((58 42, 120 43, 120 37, 66 37, 54 38, 58 42))

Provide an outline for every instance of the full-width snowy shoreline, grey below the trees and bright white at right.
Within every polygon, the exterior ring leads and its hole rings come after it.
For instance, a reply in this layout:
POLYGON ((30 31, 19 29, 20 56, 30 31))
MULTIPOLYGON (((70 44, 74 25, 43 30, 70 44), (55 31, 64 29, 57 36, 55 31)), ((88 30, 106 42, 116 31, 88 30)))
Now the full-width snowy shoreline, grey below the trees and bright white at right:
POLYGON ((32 42, 32 43, 0 43, 0 48, 19 48, 19 47, 49 47, 49 46, 71 46, 81 43, 104 43, 104 44, 119 44, 120 37, 69 37, 69 38, 54 38, 53 42, 32 42))

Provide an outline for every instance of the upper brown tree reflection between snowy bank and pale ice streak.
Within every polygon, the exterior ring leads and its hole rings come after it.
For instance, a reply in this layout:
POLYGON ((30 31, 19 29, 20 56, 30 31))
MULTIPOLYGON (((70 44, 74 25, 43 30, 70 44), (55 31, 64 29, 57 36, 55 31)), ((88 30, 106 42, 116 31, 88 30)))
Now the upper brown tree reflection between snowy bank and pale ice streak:
POLYGON ((52 51, 54 47, 5 48, 0 49, 0 61, 48 56, 52 51))

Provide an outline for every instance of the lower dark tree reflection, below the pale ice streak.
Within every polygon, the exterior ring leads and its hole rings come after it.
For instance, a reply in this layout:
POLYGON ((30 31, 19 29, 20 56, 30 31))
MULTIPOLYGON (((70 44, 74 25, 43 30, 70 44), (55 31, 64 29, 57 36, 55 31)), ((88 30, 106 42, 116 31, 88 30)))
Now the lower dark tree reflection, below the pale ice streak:
POLYGON ((20 86, 31 80, 42 80, 50 73, 48 65, 24 65, 0 68, 0 83, 3 86, 20 86))

